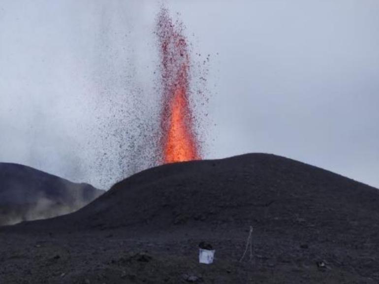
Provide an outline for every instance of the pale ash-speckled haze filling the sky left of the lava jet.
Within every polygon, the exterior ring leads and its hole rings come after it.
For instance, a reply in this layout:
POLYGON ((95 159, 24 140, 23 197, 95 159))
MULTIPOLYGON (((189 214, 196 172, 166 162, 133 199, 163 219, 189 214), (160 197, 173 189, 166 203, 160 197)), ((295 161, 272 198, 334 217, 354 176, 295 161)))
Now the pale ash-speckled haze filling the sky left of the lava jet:
POLYGON ((8 69, 0 70, 0 160, 103 189, 152 166, 158 113, 149 8, 37 2, 25 10, 1 4, 0 63, 8 69))

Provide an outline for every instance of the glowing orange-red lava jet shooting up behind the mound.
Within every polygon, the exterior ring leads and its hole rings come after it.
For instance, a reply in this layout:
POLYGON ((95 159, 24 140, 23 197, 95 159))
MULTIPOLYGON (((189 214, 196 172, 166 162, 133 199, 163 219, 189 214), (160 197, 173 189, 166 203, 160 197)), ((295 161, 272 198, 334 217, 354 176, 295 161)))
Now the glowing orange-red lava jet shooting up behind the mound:
POLYGON ((173 23, 167 9, 158 15, 162 75, 160 147, 162 162, 201 159, 189 105, 189 53, 181 23, 173 23))

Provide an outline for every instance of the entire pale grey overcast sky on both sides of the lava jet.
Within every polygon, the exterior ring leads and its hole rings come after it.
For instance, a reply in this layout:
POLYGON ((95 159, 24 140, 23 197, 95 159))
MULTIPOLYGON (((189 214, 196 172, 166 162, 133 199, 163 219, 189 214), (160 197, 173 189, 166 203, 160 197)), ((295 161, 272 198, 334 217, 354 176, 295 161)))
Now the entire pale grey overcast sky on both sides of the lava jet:
MULTIPOLYGON (((0 161, 101 188, 149 165, 157 2, 0 2, 0 161)), ((273 153, 379 187, 378 0, 165 3, 210 54, 205 158, 273 153)))

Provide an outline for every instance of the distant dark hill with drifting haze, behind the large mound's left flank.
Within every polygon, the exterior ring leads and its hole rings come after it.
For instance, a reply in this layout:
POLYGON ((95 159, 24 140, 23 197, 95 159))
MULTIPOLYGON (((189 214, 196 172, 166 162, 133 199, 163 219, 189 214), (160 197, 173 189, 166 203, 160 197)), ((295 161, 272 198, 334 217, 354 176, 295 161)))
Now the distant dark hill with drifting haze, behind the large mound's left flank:
POLYGON ((14 163, 0 163, 0 225, 73 212, 103 193, 14 163))

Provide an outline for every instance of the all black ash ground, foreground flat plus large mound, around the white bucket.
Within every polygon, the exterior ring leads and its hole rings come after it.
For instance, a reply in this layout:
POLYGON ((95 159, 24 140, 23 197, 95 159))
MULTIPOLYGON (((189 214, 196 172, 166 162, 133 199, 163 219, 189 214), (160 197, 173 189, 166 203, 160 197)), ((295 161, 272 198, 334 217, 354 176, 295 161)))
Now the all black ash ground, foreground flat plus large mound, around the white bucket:
POLYGON ((0 283, 374 284, 378 202, 378 189, 274 155, 166 164, 75 213, 0 227, 0 283), (253 257, 239 261, 250 226, 253 257))

